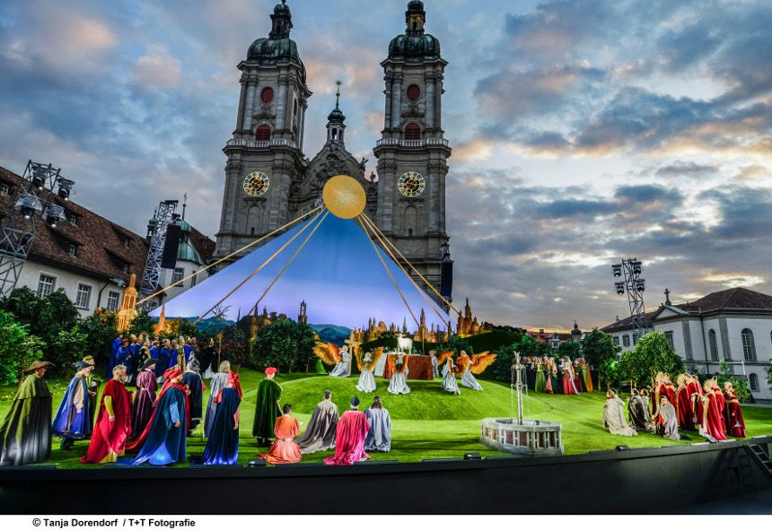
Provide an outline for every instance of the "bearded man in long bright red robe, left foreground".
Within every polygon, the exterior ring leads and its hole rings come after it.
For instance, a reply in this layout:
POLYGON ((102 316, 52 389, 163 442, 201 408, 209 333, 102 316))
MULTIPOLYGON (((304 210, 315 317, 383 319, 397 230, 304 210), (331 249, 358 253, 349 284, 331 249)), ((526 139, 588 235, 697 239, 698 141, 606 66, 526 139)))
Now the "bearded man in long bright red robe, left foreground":
POLYGON ((122 364, 112 369, 112 378, 102 391, 88 453, 81 458, 83 464, 106 464, 123 456, 131 432, 131 395, 126 390, 126 377, 122 364))

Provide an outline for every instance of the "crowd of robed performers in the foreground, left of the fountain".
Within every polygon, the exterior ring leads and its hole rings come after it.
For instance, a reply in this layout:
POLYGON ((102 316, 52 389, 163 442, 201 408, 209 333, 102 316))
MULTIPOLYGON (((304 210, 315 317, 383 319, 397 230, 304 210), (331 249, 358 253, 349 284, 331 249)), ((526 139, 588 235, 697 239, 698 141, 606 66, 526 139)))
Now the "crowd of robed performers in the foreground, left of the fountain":
MULTIPOLYGON (((131 391, 127 389, 129 368, 114 364, 97 404, 92 380, 95 364, 89 356, 75 364, 75 376, 56 414, 45 381, 47 370, 54 365, 33 362, 24 371, 26 377, 0 427, 0 465, 46 462, 54 435, 61 437, 63 451, 75 448, 77 440, 90 439, 80 458, 83 464, 182 463, 188 460, 188 438, 202 419, 206 438, 203 465, 236 465, 242 397, 239 374, 231 370, 228 361, 220 363, 211 378, 206 414, 202 414, 206 387, 200 363, 194 351, 186 357, 184 370, 179 364, 181 357, 163 370, 160 391, 156 373, 158 364, 166 361, 164 357, 140 360, 133 385, 136 390, 131 391), (126 456, 127 452, 136 452, 136 456, 126 456)), ((324 462, 348 465, 369 459, 366 451, 390 450, 391 420, 380 396, 375 396, 363 412, 355 396, 350 410, 339 414, 332 393, 325 391, 300 436, 300 422, 292 416, 292 405, 281 404, 276 368, 269 367, 265 374, 257 391, 252 434, 259 446, 270 444, 270 448, 259 458, 270 464, 292 464, 300 462, 303 454, 334 448, 335 454, 324 462)))

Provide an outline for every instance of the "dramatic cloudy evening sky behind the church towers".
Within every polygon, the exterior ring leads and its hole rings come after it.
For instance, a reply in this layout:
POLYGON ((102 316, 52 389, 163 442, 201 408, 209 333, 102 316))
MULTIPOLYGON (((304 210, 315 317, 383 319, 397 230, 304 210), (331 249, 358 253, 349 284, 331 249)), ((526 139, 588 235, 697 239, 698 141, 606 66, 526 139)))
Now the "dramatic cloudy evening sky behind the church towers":
MULTIPOLYGON (((0 165, 51 161, 75 200, 144 233, 189 195, 214 235, 221 148, 268 0, 0 4, 0 165)), ((345 81, 347 146, 382 128, 382 69, 404 1, 290 0, 314 92, 305 152, 345 81)), ((645 264, 647 307, 744 286, 772 293, 772 3, 427 0, 450 62, 454 294, 481 319, 610 323, 610 264, 645 264)))

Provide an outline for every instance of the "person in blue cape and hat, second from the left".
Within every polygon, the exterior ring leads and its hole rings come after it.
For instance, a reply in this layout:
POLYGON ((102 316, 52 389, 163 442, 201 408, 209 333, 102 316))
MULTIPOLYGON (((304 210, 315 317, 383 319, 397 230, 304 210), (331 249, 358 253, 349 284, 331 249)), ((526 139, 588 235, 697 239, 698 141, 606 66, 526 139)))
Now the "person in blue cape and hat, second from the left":
POLYGON ((84 439, 92 433, 92 414, 89 408, 89 387, 86 376, 93 365, 78 361, 75 377, 70 381, 65 397, 59 405, 51 432, 62 437, 63 451, 72 448, 76 439, 84 439))

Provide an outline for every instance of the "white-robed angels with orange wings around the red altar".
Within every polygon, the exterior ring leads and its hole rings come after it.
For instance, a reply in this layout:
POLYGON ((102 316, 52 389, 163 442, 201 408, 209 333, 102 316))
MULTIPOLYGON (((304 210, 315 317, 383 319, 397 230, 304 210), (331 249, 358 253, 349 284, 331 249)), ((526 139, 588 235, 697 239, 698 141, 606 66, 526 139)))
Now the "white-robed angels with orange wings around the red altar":
MULTIPOLYGON (((322 361, 334 364, 329 375, 333 378, 351 377, 352 355, 348 352, 347 346, 338 349, 335 344, 320 344, 315 349, 316 354, 322 361)), ((496 360, 495 353, 483 352, 469 356, 463 350, 459 352, 455 360, 455 352, 440 352, 434 350, 428 353, 429 361, 432 366, 431 378, 442 378, 441 385, 443 390, 452 395, 460 395, 458 378, 461 378, 461 387, 471 388, 481 391, 482 385, 478 383, 474 374, 481 374, 488 366, 496 360), (442 373, 440 367, 442 368, 442 373)), ((410 355, 405 352, 384 353, 383 348, 377 348, 373 352, 355 352, 354 358, 356 366, 359 369, 359 380, 356 383, 356 389, 364 394, 370 394, 377 390, 375 383, 375 371, 379 366, 379 361, 385 361, 389 364, 387 370, 390 374, 389 386, 386 391, 393 395, 403 395, 410 393, 408 386, 408 376, 410 374, 410 360, 415 359, 417 355, 410 355), (384 354, 387 356, 383 359, 384 354)), ((383 369, 383 367, 381 368, 383 369)))

